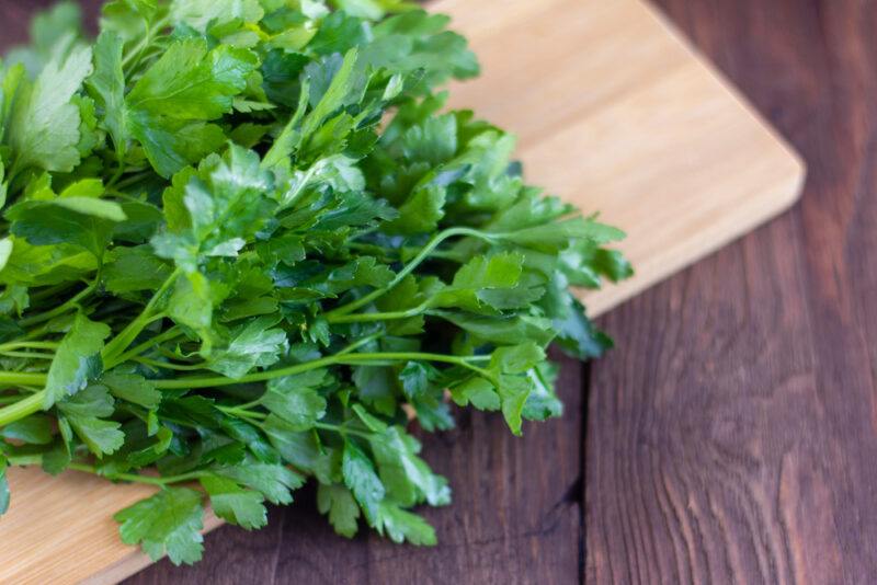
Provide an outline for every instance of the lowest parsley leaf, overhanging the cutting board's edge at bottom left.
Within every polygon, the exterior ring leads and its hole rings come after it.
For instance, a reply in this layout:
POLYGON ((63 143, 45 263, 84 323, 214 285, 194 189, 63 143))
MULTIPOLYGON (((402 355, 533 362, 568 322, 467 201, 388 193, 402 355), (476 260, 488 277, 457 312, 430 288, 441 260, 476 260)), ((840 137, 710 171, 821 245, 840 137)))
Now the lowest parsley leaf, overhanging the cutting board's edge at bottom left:
POLYGON ((168 487, 113 516, 126 544, 140 544, 150 559, 164 554, 173 564, 201 560, 202 495, 186 487, 168 487))

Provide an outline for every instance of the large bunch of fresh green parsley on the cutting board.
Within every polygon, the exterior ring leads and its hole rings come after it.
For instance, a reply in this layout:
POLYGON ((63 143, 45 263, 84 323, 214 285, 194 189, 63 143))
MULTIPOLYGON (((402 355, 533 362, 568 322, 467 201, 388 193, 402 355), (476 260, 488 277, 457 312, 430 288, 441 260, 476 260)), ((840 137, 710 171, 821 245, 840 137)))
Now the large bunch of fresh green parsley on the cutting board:
POLYGON ((115 0, 36 19, 0 94, 0 512, 8 466, 145 482, 122 539, 201 558, 308 479, 335 530, 435 541, 451 490, 407 431, 449 402, 561 412, 570 286, 622 233, 527 186, 435 88, 478 72, 402 0, 115 0))

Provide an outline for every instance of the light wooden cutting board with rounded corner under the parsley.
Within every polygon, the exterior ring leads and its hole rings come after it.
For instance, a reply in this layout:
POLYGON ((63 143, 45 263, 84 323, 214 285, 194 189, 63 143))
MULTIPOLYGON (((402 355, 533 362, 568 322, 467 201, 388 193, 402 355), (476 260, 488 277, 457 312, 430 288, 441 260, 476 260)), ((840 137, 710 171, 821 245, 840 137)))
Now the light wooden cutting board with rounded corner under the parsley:
MULTIPOLYGON (((638 0, 443 0, 483 64, 453 105, 520 136, 529 182, 623 227, 637 276, 583 296, 596 314, 788 207, 804 165, 638 0)), ((18 24, 18 23, 16 23, 18 24)), ((624 351, 622 347, 619 351, 624 351)), ((112 514, 149 495, 69 472, 10 472, 0 583, 114 583, 149 560, 112 514)), ((218 526, 215 517, 207 528, 218 526)))

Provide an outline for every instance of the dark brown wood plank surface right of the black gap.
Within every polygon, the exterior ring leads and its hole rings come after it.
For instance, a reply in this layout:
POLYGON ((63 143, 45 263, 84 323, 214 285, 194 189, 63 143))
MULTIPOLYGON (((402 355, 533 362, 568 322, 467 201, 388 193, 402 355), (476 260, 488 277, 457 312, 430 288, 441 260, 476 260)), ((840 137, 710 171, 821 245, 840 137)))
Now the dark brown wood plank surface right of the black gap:
POLYGON ((791 213, 603 320, 620 349, 592 370, 584 577, 874 583, 875 4, 658 3, 810 177, 791 213))

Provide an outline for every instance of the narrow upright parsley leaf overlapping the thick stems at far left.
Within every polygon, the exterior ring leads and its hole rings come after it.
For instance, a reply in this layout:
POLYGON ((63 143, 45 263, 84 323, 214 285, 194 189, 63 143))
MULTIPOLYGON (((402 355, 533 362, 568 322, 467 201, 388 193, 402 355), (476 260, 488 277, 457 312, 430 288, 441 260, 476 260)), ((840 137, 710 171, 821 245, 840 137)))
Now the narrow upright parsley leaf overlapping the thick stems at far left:
POLYGON ((101 375, 103 340, 110 335, 105 323, 89 321, 77 314, 72 328, 64 336, 48 369, 43 409, 73 395, 101 375))

